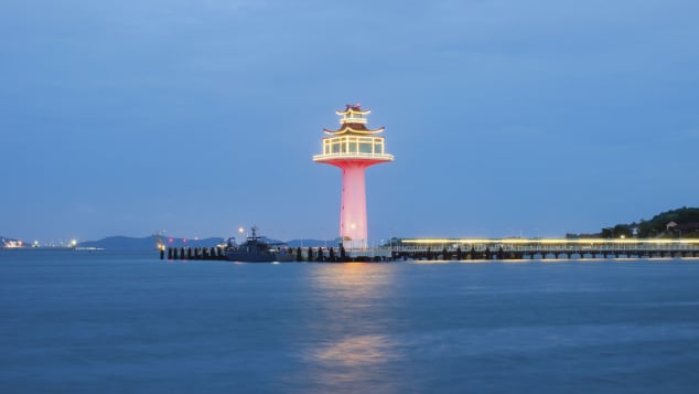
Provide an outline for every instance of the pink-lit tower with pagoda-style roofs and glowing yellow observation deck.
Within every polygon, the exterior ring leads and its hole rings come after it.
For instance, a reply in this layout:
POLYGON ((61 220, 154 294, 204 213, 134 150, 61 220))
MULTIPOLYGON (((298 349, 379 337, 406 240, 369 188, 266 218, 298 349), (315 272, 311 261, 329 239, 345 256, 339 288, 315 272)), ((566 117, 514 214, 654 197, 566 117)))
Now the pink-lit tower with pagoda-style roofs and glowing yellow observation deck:
POLYGON ((364 172, 368 167, 394 161, 385 152, 385 138, 378 137, 384 128, 366 128, 366 116, 370 110, 359 104, 347 105, 335 111, 340 118, 337 130, 323 131, 323 152, 313 156, 313 161, 342 169, 342 201, 340 207, 340 236, 345 247, 365 248, 367 242, 366 187, 364 172))

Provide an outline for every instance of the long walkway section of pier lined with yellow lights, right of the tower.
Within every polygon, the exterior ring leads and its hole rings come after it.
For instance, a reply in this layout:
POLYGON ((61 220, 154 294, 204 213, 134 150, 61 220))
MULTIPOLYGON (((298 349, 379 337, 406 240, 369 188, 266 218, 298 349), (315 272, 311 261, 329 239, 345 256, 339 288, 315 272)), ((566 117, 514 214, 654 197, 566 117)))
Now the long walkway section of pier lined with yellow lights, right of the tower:
POLYGON ((390 246, 395 258, 696 258, 699 239, 636 238, 402 238, 390 246))

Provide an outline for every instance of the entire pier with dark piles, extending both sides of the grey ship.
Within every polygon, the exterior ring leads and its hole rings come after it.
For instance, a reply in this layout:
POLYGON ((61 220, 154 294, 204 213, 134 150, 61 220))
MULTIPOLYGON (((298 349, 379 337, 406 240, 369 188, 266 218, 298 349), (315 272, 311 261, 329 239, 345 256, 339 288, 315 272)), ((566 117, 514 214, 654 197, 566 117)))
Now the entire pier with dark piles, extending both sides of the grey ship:
MULTIPOLYGON (((699 258, 699 239, 402 238, 381 247, 290 248, 295 262, 699 258)), ((226 260, 222 247, 169 247, 169 260, 226 260)))

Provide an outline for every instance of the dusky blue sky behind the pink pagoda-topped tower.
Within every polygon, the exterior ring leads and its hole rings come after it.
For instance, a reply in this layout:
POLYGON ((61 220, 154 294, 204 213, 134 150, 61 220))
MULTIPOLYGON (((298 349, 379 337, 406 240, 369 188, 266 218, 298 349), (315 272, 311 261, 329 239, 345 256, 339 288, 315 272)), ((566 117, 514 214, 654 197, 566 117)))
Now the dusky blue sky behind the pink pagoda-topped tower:
POLYGON ((348 103, 396 161, 369 237, 558 236, 697 206, 699 3, 4 0, 0 234, 337 235, 348 103))

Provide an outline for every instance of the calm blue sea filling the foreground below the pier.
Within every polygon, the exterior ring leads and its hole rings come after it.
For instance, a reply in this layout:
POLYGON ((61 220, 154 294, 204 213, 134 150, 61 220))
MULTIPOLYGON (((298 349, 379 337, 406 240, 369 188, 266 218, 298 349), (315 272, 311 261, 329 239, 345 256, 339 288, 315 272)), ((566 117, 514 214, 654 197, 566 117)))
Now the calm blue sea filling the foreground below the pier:
POLYGON ((699 259, 0 251, 2 393, 697 393, 699 259))

